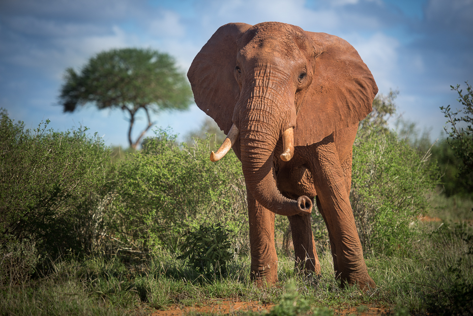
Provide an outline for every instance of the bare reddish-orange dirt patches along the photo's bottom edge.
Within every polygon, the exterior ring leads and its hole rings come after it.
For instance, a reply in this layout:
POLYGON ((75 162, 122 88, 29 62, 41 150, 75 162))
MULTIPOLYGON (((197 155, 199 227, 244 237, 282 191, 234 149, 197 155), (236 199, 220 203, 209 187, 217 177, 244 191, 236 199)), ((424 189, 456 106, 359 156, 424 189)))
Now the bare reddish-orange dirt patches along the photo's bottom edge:
MULTIPOLYGON (((179 306, 170 306, 167 310, 157 310, 149 314, 149 316, 183 316, 189 312, 207 312, 219 314, 231 314, 235 311, 258 311, 268 312, 273 307, 273 304, 260 304, 259 302, 233 302, 224 300, 213 300, 205 306, 192 306, 180 308, 179 306)), ((322 307, 322 306, 319 306, 322 307)), ((360 316, 374 316, 387 315, 390 310, 387 308, 378 307, 353 307, 346 309, 335 309, 335 315, 360 315, 360 316)))

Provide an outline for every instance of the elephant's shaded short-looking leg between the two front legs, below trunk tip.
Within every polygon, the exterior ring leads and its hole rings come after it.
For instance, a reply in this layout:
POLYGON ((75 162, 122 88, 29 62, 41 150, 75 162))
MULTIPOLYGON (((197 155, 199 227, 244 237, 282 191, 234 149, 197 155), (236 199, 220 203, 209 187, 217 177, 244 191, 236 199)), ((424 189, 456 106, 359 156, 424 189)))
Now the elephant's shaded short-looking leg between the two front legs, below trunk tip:
POLYGON ((294 245, 295 266, 306 274, 320 274, 320 262, 315 249, 310 215, 292 215, 287 217, 291 225, 294 245))

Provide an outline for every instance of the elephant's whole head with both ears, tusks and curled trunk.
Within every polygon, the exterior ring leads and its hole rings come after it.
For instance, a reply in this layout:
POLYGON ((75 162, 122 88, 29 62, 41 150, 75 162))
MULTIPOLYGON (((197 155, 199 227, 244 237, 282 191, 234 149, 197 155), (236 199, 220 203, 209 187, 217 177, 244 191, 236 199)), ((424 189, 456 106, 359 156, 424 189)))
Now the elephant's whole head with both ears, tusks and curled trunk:
POLYGON ((286 216, 310 213, 312 202, 279 192, 276 143, 283 138, 280 158, 288 161, 294 146, 317 143, 363 120, 377 93, 371 72, 346 41, 278 22, 221 26, 188 77, 197 106, 228 135, 211 159, 233 146, 251 194, 286 216))

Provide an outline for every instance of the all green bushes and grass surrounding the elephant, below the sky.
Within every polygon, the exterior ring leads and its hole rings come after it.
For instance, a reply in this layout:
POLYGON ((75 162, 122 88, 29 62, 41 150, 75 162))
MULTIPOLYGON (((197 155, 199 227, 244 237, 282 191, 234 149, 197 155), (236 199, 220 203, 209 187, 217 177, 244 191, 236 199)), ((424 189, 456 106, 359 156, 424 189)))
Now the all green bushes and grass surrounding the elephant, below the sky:
MULTIPOLYGON (((471 91, 460 95, 471 106, 471 91)), ((340 288, 316 210, 321 277, 293 270, 288 222, 277 216, 280 286, 255 288, 240 162, 232 152, 209 160, 221 135, 196 132, 178 143, 156 130, 141 150, 123 152, 85 128, 56 132, 46 121, 25 130, 3 110, 0 314, 147 314, 216 299, 273 303, 272 315, 351 306, 473 313, 473 190, 456 150, 470 131, 457 124, 433 145, 406 122, 395 132, 388 127, 395 97, 375 99, 353 147, 350 198, 378 285, 368 292, 340 288)))

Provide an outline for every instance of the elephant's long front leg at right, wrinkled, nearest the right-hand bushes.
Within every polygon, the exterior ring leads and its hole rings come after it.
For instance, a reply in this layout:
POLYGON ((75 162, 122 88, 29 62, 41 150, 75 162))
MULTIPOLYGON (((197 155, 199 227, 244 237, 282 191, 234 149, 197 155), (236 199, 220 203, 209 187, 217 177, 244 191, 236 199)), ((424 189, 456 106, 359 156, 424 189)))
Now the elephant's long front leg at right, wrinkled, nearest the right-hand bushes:
POLYGON ((334 245, 334 267, 342 285, 358 284, 361 289, 374 287, 368 275, 363 249, 351 210, 345 173, 332 136, 317 145, 311 168, 331 244, 334 245))

